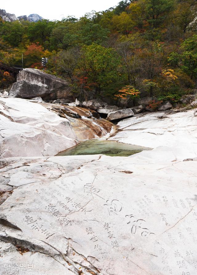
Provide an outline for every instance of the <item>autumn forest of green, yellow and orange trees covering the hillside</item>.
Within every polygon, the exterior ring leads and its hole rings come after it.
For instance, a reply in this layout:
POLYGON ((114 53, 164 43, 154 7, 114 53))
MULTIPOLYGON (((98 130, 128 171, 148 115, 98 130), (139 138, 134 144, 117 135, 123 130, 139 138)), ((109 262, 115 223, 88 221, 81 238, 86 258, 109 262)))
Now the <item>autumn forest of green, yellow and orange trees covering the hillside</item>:
MULTIPOLYGON (((4 22, 0 62, 66 79, 80 98, 155 96, 176 102, 197 79, 197 1, 123 0, 80 19, 4 22)), ((0 75, 0 88, 12 81, 0 75)))

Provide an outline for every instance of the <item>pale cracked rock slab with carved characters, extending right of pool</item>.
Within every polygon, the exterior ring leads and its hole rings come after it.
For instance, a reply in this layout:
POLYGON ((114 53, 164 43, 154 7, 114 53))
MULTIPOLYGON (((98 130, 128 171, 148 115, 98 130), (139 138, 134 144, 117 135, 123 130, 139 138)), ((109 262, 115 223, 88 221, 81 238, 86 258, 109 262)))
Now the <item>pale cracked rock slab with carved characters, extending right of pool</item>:
POLYGON ((0 274, 195 275, 194 111, 119 122, 113 139, 154 148, 128 158, 1 159, 0 274))

